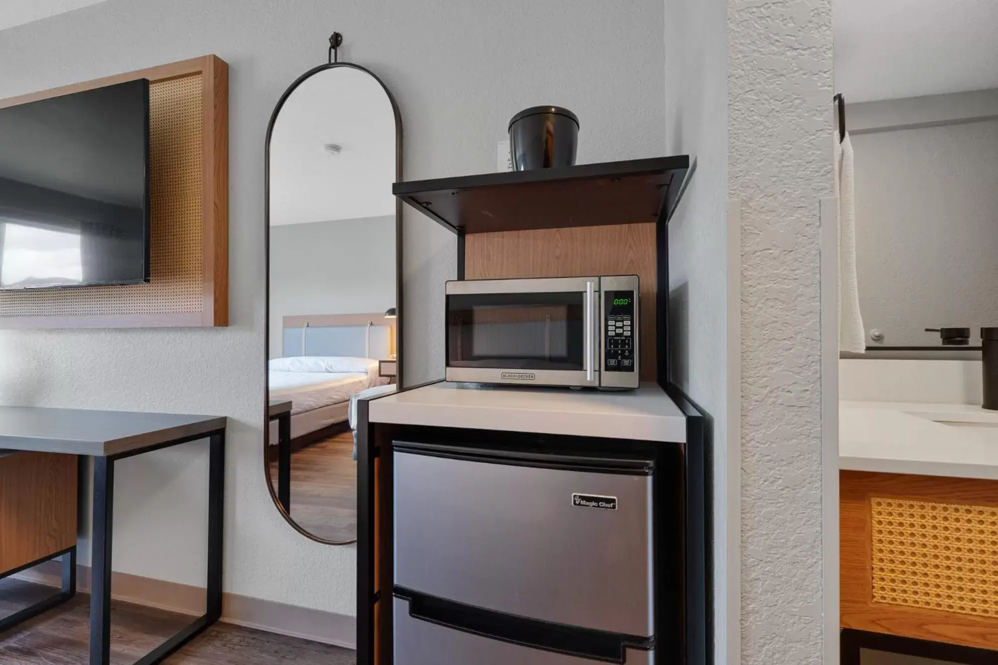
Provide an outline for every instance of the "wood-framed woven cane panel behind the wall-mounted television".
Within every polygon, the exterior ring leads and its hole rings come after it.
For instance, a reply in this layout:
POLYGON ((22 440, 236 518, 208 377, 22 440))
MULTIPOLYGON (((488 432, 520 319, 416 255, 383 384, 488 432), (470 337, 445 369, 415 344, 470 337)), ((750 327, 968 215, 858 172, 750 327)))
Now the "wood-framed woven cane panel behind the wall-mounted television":
POLYGON ((229 74, 204 56, 0 100, 0 108, 150 81, 150 259, 144 285, 0 293, 0 328, 229 324, 229 74))

